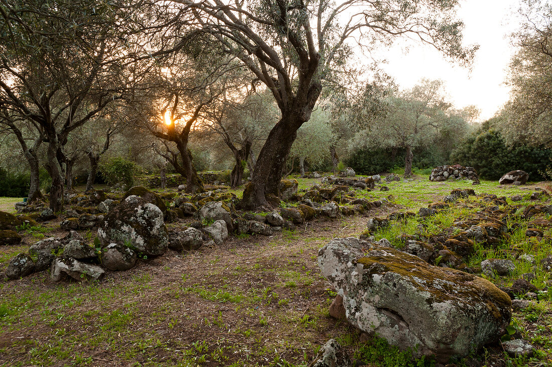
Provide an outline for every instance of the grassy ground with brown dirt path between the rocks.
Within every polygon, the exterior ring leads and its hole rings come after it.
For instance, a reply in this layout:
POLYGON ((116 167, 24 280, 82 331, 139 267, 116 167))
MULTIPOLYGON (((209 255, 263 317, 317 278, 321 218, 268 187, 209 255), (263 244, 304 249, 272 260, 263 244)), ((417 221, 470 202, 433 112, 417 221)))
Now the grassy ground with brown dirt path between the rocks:
MULTIPOLYGON (((300 179, 300 187, 317 181, 300 179)), ((368 365, 410 365, 403 353, 381 341, 360 342, 357 330, 328 315, 335 293, 319 272, 317 251, 332 238, 358 236, 365 230, 368 217, 417 211, 453 188, 527 199, 534 187, 544 184, 434 184, 427 176, 416 177, 411 182, 384 184, 390 188, 386 192, 357 191, 357 197, 371 200, 389 195, 394 198, 391 206, 363 216, 311 223, 270 237, 231 238, 222 246, 195 252, 169 250, 161 257, 140 262, 131 271, 109 273, 99 283, 57 284, 46 272, 4 280, 0 282, 0 365, 305 366, 329 338, 337 338, 351 355, 364 355, 368 365)), ((440 214, 428 230, 439 231, 455 218, 476 210, 454 209, 440 214)), ((24 231, 21 246, 0 247, 0 271, 11 257, 28 250, 36 240, 59 235, 56 223, 24 231)), ((185 228, 187 224, 171 226, 185 228)), ((376 236, 394 241, 397 234, 413 233, 417 224, 397 222, 376 236)), ((92 241, 92 233, 82 234, 92 241)), ((512 241, 523 243, 525 251, 539 258, 550 251, 549 245, 537 246, 521 236, 512 236, 508 245, 512 241)), ((479 261, 495 255, 477 253, 479 261)), ((525 265, 517 265, 515 276, 527 272, 525 265)), ((542 286, 546 275, 538 275, 542 286)), ((492 280, 509 284, 513 278, 492 280)), ((500 350, 490 348, 474 360, 479 365, 505 365, 498 361, 519 366, 552 365, 549 301, 517 312, 513 325, 539 348, 537 357, 507 358, 503 362, 500 350)), ((470 363, 471 359, 466 359, 456 365, 474 365, 470 363)))

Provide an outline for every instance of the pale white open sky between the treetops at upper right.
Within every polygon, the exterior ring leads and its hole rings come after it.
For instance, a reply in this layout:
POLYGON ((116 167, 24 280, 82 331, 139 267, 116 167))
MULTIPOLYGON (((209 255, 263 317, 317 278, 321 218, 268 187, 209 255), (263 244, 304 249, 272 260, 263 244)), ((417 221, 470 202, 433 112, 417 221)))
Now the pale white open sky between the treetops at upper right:
POLYGON ((509 35, 518 29, 519 0, 460 0, 458 17, 465 23, 465 45, 479 44, 471 73, 445 61, 429 46, 395 44, 384 57, 383 69, 401 89, 411 88, 421 78, 442 79, 455 107, 476 105, 480 121, 492 117, 509 98, 504 84, 509 61, 515 52, 509 35))

